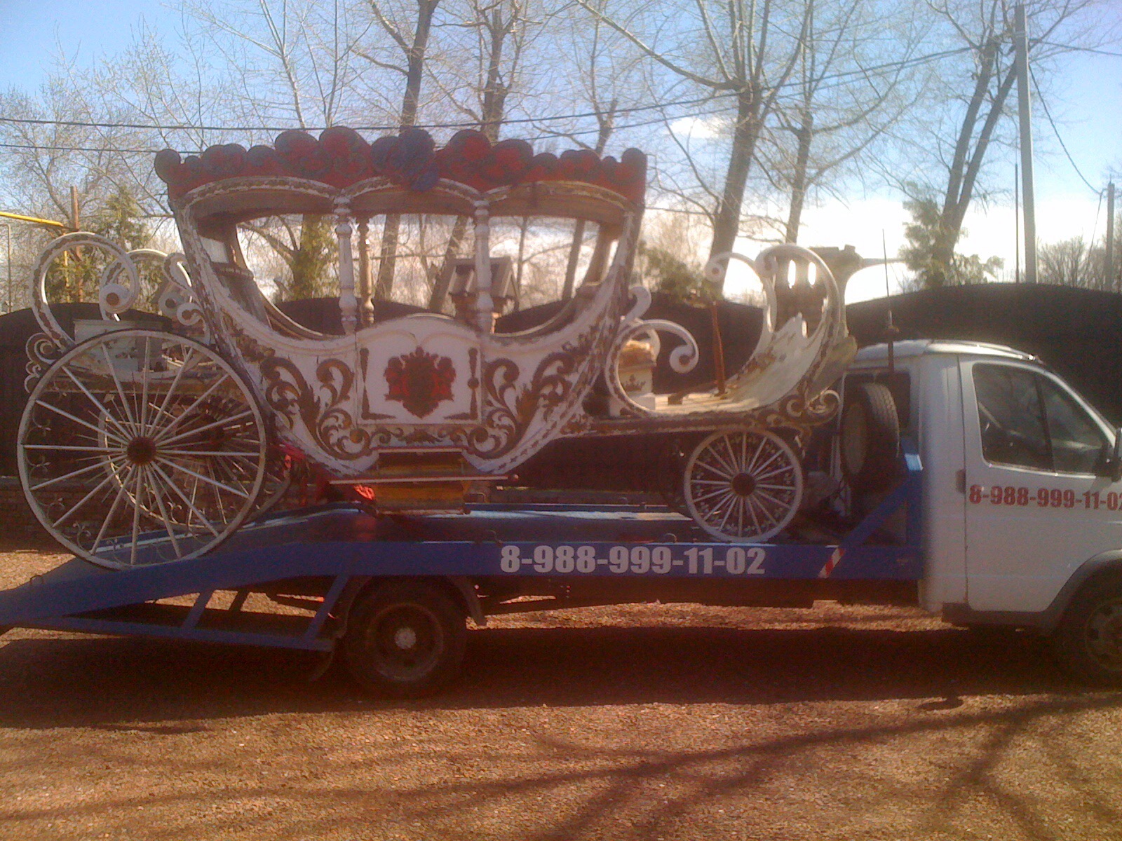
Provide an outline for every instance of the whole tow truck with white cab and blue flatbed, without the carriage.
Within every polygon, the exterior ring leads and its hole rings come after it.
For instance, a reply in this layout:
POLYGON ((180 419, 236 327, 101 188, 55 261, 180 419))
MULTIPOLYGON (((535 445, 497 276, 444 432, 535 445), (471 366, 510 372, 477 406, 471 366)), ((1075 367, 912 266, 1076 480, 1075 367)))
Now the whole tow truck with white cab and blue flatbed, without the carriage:
POLYGON ((1027 629, 1080 681, 1122 684, 1122 432, 996 345, 866 348, 839 390, 806 465, 817 491, 766 543, 712 542, 664 505, 333 503, 264 516, 197 558, 145 565, 146 536, 120 547, 131 569, 75 558, 0 593, 0 625, 339 654, 365 687, 419 696, 460 671, 468 619, 835 600, 1027 629))

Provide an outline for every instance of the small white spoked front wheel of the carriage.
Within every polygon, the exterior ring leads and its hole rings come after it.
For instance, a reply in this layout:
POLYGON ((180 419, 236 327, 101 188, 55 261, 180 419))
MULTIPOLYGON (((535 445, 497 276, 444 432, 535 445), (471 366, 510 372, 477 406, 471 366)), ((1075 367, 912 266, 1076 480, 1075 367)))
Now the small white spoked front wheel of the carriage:
POLYGON ((802 468, 774 433, 725 429, 695 447, 683 486, 686 507, 708 535, 764 540, 799 510, 802 468))

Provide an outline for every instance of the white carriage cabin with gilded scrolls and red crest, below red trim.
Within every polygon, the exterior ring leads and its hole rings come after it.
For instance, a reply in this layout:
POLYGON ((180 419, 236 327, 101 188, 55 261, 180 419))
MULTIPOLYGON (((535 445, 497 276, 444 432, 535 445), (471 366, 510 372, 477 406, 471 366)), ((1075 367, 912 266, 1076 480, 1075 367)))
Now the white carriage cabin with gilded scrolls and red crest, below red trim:
MULTIPOLYGON (((625 158, 637 169, 633 181, 643 177, 635 158, 637 153, 625 158)), ((533 159, 524 154, 523 160, 533 159)), ((282 420, 282 438, 339 477, 361 477, 376 468, 379 453, 403 447, 458 450, 479 473, 502 474, 560 432, 616 339, 642 201, 587 176, 524 175, 516 172, 516 183, 490 190, 445 177, 421 190, 385 175, 343 187, 293 175, 248 175, 200 185, 175 200, 205 320, 223 354, 282 420), (297 325, 257 290, 238 248, 237 224, 282 213, 334 218, 343 335, 297 325), (362 324, 371 285, 366 228, 384 214, 473 221, 479 294, 466 317, 421 313, 362 324), (596 223, 599 241, 583 284, 557 317, 523 333, 495 333, 490 221, 530 215, 596 223)), ((628 192, 635 195, 633 187, 628 192)))

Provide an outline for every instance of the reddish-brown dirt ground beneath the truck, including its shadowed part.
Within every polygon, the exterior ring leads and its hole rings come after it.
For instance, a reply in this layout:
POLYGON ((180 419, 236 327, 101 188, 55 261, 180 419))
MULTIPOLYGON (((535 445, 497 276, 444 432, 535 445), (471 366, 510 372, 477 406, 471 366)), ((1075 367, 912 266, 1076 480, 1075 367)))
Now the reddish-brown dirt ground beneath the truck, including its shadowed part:
POLYGON ((0 839, 1122 839, 1122 693, 1026 635, 651 606, 493 621, 420 703, 311 665, 0 637, 0 839))

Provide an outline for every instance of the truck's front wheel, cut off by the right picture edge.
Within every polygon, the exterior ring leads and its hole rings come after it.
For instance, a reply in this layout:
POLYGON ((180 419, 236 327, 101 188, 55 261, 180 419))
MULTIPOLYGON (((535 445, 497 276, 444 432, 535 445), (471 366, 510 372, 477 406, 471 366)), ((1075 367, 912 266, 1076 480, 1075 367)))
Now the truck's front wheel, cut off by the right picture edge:
POLYGON ((1088 581, 1064 611, 1052 651, 1078 681, 1122 686, 1122 575, 1088 581))

